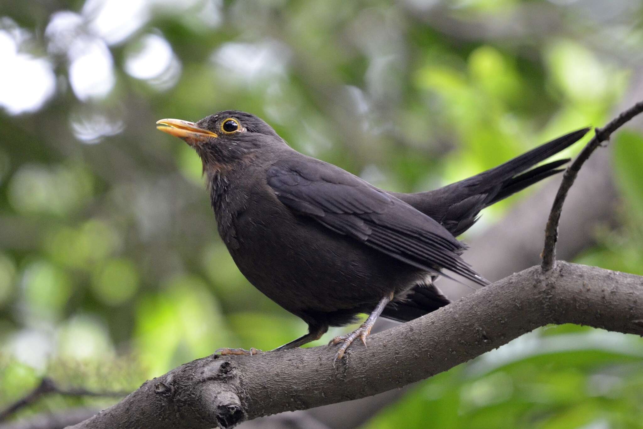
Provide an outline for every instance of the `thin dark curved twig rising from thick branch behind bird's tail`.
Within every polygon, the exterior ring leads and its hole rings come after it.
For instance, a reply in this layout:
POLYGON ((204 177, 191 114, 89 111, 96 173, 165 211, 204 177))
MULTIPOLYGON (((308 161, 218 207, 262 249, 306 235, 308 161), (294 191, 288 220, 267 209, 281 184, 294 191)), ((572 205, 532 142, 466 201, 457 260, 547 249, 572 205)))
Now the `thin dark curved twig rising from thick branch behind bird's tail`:
POLYGON ((641 112, 643 112, 643 101, 639 101, 628 110, 622 112, 616 119, 613 119, 613 121, 608 123, 605 127, 596 128, 595 135, 592 137, 590 142, 587 143, 578 157, 574 162, 572 162, 572 165, 565 170, 563 181, 561 182, 561 186, 558 188, 556 198, 554 198, 554 204, 552 205, 552 210, 550 211, 549 218, 547 220, 547 227, 545 228, 545 249, 543 249, 543 262, 541 263, 543 271, 551 270, 554 268, 554 263, 556 263, 558 222, 563 211, 563 203, 565 202, 567 193, 574 184, 574 180, 576 179, 576 176, 581 170, 584 162, 589 159, 590 155, 592 155, 592 152, 594 152, 597 147, 601 146, 602 142, 610 139, 613 132, 641 112))

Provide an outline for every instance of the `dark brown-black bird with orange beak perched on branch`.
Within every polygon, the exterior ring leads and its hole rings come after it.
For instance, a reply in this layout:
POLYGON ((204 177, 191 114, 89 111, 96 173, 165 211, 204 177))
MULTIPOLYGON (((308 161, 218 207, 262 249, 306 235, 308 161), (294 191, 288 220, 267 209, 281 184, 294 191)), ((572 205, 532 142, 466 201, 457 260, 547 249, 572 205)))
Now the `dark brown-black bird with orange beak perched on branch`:
MULTIPOLYGON (((308 332, 271 351, 318 340, 330 326, 367 319, 335 337, 333 365, 378 317, 408 322, 449 304, 438 276, 489 282, 462 259, 457 236, 485 207, 563 171, 536 166, 581 139, 570 132, 500 166, 439 189, 395 193, 297 152, 264 120, 222 110, 197 122, 161 119, 201 158, 217 229, 240 272, 308 332)), ((257 349, 217 350, 253 355, 257 349)))

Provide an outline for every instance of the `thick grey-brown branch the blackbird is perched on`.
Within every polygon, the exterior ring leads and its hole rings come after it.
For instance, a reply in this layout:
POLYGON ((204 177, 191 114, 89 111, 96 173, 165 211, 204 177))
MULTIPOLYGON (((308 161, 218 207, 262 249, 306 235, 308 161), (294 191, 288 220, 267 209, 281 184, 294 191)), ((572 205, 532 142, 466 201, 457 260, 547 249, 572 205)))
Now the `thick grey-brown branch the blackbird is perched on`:
POLYGON ((208 356, 146 381, 73 427, 231 427, 402 387, 550 323, 643 335, 642 286, 643 277, 584 265, 561 262, 547 274, 532 267, 373 335, 368 348, 354 345, 337 367, 327 347, 208 356))

